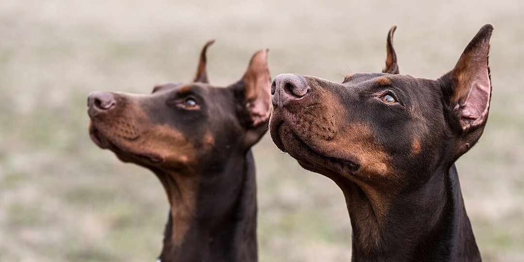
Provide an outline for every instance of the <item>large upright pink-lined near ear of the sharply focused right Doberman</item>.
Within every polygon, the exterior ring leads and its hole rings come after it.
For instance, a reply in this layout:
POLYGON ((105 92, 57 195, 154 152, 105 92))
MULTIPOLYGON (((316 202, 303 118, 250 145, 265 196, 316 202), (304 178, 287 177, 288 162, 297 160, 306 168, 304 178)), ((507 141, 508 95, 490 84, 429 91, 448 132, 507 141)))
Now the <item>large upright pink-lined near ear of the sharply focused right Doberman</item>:
POLYGON ((484 25, 464 49, 455 68, 441 78, 447 112, 460 133, 459 156, 481 137, 488 117, 492 89, 488 53, 492 32, 493 25, 484 25))

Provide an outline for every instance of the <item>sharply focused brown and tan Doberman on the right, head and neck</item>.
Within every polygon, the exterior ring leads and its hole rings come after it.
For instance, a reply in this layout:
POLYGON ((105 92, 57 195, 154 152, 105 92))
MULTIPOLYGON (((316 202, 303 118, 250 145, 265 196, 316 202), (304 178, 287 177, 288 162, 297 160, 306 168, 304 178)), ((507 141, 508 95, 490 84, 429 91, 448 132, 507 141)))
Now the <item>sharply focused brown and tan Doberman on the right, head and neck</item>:
POLYGON ((353 261, 480 261, 454 162, 486 124, 493 26, 436 80, 399 74, 395 28, 381 73, 278 75, 271 137, 342 189, 353 261))

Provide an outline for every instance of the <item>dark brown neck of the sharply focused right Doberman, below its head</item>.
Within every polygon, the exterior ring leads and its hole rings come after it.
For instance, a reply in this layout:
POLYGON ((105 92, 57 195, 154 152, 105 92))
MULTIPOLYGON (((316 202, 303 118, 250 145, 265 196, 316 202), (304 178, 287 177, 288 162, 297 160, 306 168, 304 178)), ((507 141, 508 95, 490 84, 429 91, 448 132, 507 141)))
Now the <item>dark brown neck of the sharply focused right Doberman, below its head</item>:
POLYGON ((335 181, 350 214, 353 261, 481 260, 455 165, 395 196, 335 181))

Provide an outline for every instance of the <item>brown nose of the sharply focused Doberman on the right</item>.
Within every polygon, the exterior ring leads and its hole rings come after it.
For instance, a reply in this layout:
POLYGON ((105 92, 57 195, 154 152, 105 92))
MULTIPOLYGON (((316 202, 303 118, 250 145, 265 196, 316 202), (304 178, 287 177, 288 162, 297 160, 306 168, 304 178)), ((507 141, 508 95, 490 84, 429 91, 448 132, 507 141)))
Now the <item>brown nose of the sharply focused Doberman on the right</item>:
POLYGON ((285 106, 308 94, 309 85, 299 74, 279 74, 271 84, 271 102, 274 106, 285 106))

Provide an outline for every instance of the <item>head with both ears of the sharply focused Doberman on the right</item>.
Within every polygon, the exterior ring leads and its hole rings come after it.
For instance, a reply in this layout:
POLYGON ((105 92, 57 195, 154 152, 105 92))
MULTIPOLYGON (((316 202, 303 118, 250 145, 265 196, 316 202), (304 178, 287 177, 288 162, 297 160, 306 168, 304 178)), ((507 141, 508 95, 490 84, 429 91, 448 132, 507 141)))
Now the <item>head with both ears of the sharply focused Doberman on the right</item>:
POLYGON ((388 34, 386 69, 342 83, 280 74, 272 83, 270 133, 305 169, 360 185, 400 189, 449 169, 482 135, 489 110, 485 25, 453 70, 436 80, 399 74, 388 34))

